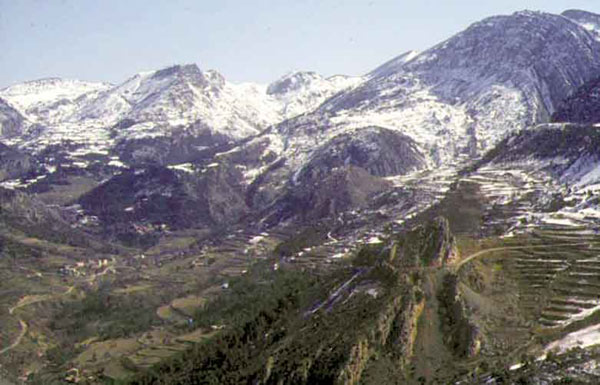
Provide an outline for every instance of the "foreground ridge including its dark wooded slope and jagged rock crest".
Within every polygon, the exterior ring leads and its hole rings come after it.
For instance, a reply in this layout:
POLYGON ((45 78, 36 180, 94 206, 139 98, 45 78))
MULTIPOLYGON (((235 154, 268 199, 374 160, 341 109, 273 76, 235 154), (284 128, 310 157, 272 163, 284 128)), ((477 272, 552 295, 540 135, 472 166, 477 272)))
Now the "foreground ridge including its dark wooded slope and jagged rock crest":
POLYGON ((325 279, 252 272, 253 281, 236 280, 198 314, 200 323, 222 322, 225 330, 202 349, 132 376, 131 383, 412 383, 419 319, 426 304, 436 302, 420 277, 448 263, 454 247, 439 218, 385 245, 364 246, 347 268, 325 279), (236 303, 245 315, 228 318, 223 310, 236 303))

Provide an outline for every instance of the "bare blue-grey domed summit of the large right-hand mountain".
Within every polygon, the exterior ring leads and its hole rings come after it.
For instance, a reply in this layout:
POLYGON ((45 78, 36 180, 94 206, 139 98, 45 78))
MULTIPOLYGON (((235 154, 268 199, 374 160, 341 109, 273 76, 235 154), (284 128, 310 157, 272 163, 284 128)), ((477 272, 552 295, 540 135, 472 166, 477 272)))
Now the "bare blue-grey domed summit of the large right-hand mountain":
POLYGON ((541 117, 597 76, 598 47, 568 19, 525 11, 475 23, 407 67, 445 98, 478 99, 493 83, 515 87, 525 94, 530 113, 541 117))

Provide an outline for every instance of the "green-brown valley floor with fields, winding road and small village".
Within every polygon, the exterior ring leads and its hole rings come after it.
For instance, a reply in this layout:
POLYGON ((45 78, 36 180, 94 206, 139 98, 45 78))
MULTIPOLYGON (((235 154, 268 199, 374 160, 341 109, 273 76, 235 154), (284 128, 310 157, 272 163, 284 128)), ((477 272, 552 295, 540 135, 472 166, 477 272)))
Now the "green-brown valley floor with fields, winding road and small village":
POLYGON ((0 365, 34 384, 60 382, 73 368, 81 378, 125 378, 212 338, 219 328, 190 319, 279 241, 265 237, 248 256, 242 241, 200 251, 206 236, 167 232, 149 250, 104 254, 5 228, 0 349, 10 350, 0 365))

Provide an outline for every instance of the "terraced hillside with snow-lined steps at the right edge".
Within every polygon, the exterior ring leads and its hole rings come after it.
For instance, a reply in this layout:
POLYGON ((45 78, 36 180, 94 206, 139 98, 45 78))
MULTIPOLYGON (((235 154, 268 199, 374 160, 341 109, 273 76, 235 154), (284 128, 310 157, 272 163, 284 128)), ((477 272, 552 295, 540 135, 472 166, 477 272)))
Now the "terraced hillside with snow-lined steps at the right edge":
POLYGON ((487 168, 464 182, 479 186, 488 234, 504 234, 459 267, 488 348, 541 355, 600 343, 571 338, 600 323, 597 223, 565 215, 576 202, 543 174, 487 168))

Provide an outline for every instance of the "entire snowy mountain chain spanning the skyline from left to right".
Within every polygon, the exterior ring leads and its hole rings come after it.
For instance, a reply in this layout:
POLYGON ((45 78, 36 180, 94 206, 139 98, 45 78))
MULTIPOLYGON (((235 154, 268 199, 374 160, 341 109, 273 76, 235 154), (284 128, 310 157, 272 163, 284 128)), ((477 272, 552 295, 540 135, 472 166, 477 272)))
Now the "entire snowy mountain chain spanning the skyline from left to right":
POLYGON ((548 122, 600 73, 600 41, 585 26, 593 16, 487 18, 363 77, 292 72, 270 85, 233 84, 192 64, 115 86, 49 80, 57 85, 46 85, 53 90, 46 94, 22 85, 0 96, 43 124, 11 144, 38 153, 63 145, 61 159, 80 168, 107 160, 114 167, 233 167, 248 208, 269 211, 313 181, 303 176, 315 170, 355 167, 388 177, 457 166, 511 132, 548 122))

